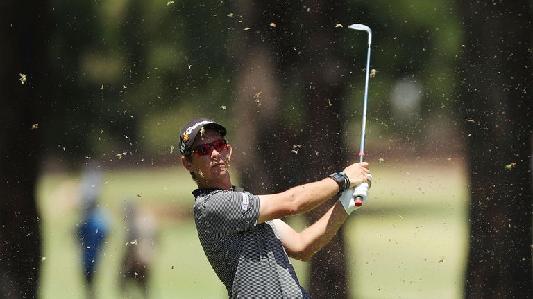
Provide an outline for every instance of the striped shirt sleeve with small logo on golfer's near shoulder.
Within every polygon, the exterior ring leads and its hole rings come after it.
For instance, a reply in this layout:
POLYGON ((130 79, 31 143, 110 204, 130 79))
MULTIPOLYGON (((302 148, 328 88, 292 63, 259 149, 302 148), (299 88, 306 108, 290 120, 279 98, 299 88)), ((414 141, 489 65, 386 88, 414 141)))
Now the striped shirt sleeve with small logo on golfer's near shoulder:
POLYGON ((223 191, 205 201, 205 220, 221 237, 253 230, 259 219, 259 197, 248 192, 223 191))

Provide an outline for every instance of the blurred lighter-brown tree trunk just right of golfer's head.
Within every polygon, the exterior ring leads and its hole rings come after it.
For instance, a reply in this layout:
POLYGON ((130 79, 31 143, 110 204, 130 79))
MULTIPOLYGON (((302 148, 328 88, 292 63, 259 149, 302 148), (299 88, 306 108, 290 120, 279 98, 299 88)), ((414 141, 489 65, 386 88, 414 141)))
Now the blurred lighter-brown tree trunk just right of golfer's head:
POLYGON ((239 1, 236 12, 235 17, 246 23, 236 28, 230 42, 239 66, 234 160, 247 190, 282 192, 306 181, 298 172, 298 157, 291 152, 292 145, 301 142, 300 132, 287 125, 282 107, 281 75, 290 56, 287 35, 294 29, 290 21, 296 10, 278 3, 239 1))

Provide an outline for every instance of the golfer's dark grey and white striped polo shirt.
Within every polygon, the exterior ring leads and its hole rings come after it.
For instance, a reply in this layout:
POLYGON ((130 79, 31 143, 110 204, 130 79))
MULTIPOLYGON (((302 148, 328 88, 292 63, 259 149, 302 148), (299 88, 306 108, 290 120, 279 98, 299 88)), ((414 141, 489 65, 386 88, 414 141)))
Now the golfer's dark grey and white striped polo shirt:
POLYGON ((203 251, 230 298, 308 298, 272 221, 257 224, 259 197, 201 188, 192 192, 203 251))

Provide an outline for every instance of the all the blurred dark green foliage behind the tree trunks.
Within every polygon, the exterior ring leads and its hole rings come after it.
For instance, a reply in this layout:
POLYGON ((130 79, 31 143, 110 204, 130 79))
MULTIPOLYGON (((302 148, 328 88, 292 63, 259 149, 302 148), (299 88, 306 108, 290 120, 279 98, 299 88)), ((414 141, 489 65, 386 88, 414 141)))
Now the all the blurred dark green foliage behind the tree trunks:
MULTIPOLYGON (((313 34, 316 28, 301 28, 298 17, 314 7, 312 3, 276 3, 296 15, 272 15, 271 24, 250 24, 236 12, 244 2, 53 1, 54 20, 60 21, 52 27, 49 59, 60 80, 54 83, 53 109, 62 122, 46 128, 49 150, 76 159, 87 155, 111 159, 121 152, 137 151, 162 158, 170 144, 176 144, 178 127, 187 118, 198 114, 223 120, 236 117, 235 90, 239 87, 235 73, 244 57, 235 55, 235 47, 243 39, 263 35, 294 41, 285 48, 271 46, 277 49, 275 59, 287 64, 278 70, 283 84, 282 118, 302 127, 301 110, 306 103, 301 89, 305 87, 298 82, 294 67, 328 63, 328 57, 299 62, 298 53, 305 48, 290 45, 313 34), (64 97, 66 101, 60 100, 64 97)), ((448 122, 453 113, 450 105, 462 49, 462 31, 452 3, 373 1, 357 6, 344 3, 344 8, 344 16, 331 19, 330 26, 336 27, 343 49, 339 53, 344 68, 341 76, 350 83, 343 105, 351 132, 357 136, 360 124, 366 37, 346 27, 363 22, 373 28, 371 67, 378 71, 371 80, 369 131, 373 138, 369 143, 420 143, 418 152, 442 150, 439 145, 445 143, 439 135, 432 136, 442 130, 438 124, 448 122), (402 78, 420 88, 416 122, 392 118, 391 88, 402 78)))

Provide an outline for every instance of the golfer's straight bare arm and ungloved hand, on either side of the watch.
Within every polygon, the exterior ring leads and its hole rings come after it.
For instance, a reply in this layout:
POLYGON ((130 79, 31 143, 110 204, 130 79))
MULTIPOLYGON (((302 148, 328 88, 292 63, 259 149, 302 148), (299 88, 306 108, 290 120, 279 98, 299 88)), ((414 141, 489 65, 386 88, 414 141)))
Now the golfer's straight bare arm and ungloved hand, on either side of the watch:
MULTIPOLYGON (((369 164, 354 163, 344 169, 350 179, 350 188, 366 181, 369 164)), ((310 211, 335 196, 339 192, 336 181, 325 178, 314 183, 307 183, 291 188, 285 192, 271 195, 260 195, 259 219, 263 223, 291 215, 310 211)))

